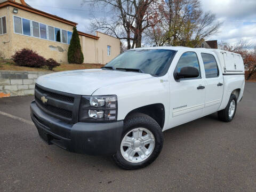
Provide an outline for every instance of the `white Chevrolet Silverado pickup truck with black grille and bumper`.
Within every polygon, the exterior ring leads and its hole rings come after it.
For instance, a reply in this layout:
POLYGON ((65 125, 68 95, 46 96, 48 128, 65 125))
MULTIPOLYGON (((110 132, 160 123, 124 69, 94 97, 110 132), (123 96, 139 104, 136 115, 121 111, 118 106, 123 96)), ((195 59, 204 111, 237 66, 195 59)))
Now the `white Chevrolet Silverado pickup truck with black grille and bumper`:
POLYGON ((123 169, 152 163, 163 131, 215 113, 230 122, 244 91, 241 55, 216 49, 148 47, 101 69, 37 79, 31 118, 49 144, 112 154, 123 169))

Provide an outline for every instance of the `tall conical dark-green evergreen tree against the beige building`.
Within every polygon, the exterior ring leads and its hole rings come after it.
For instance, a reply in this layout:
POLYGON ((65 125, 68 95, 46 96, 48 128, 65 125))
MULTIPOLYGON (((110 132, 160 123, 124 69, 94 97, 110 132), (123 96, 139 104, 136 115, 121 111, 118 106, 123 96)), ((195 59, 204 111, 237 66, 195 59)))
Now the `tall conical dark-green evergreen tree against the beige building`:
POLYGON ((84 61, 80 39, 76 27, 73 27, 73 34, 68 47, 68 62, 81 64, 84 61))

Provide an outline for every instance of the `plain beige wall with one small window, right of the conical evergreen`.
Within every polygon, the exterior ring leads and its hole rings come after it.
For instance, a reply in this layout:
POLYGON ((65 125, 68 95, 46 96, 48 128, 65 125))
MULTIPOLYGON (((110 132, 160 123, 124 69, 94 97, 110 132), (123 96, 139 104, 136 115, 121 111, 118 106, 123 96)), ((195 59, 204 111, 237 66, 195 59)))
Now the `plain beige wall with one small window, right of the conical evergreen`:
POLYGON ((120 40, 118 38, 100 32, 97 32, 97 36, 100 37, 98 40, 80 36, 84 63, 106 64, 120 54, 120 40), (108 45, 111 46, 111 55, 107 54, 108 45))

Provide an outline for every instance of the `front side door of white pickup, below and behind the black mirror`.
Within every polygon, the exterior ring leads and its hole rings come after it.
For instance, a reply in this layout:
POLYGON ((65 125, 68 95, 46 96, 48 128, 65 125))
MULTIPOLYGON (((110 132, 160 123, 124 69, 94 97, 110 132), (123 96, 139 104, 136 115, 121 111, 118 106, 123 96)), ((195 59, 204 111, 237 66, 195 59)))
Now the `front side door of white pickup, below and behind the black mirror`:
POLYGON ((199 76, 175 80, 170 73, 170 127, 174 127, 202 116, 205 99, 205 79, 202 77, 202 66, 196 52, 185 52, 181 55, 174 73, 183 67, 195 67, 199 76))

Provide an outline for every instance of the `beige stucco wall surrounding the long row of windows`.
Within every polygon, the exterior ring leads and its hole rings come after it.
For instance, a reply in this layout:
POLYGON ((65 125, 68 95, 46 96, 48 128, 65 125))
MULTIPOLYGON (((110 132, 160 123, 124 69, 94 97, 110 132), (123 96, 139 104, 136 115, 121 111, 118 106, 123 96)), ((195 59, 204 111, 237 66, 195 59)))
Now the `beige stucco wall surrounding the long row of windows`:
MULTIPOLYGON (((28 11, 24 11, 19 9, 17 14, 14 14, 12 12, 13 7, 9 7, 9 23, 10 23, 10 43, 9 45, 4 45, 9 46, 9 52, 6 55, 7 58, 10 58, 11 55, 14 54, 15 51, 20 50, 22 48, 28 48, 31 50, 36 51, 39 55, 42 55, 44 58, 53 58, 57 60, 58 62, 67 62, 68 56, 68 44, 64 43, 59 43, 59 42, 52 42, 46 39, 40 39, 40 38, 35 38, 35 37, 30 37, 30 36, 25 36, 21 34, 14 34, 14 29, 13 29, 13 15, 26 18, 29 20, 37 21, 44 23, 45 25, 53 26, 53 27, 58 27, 61 29, 73 31, 73 26, 67 25, 66 23, 62 23, 59 21, 55 21, 50 18, 43 17, 41 15, 35 14, 35 13, 30 13, 28 11)), ((5 8, 6 9, 6 8, 5 8)))

